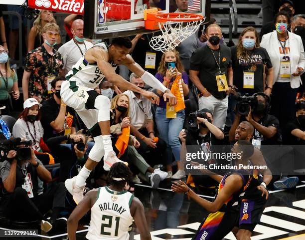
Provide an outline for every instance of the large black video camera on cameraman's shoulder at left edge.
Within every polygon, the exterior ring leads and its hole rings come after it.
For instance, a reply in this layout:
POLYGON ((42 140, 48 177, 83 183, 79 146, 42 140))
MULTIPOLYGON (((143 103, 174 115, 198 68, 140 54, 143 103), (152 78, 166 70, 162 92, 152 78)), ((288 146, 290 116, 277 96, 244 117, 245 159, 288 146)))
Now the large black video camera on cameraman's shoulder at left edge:
POLYGON ((7 154, 10 150, 16 151, 15 159, 17 161, 28 161, 31 159, 32 141, 21 141, 20 138, 9 140, 0 140, 0 162, 7 159, 7 154))

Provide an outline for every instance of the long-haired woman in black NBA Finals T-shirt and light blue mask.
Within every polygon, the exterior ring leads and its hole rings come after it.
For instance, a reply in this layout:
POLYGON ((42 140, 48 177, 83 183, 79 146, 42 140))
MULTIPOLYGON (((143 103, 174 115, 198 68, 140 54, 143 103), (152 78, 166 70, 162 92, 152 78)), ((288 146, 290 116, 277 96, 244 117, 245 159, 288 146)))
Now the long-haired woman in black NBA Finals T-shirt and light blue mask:
POLYGON ((252 26, 246 27, 236 46, 231 47, 233 85, 242 95, 265 92, 271 94, 273 68, 267 50, 260 46, 259 36, 252 26), (264 82, 264 64, 267 65, 267 84, 264 82))

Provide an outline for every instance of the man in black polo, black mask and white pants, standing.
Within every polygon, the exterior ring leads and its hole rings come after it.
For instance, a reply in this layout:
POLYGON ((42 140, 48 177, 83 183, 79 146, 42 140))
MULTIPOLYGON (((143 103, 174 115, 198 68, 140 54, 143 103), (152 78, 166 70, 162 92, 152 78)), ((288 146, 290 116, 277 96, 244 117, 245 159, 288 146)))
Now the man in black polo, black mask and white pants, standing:
POLYGON ((228 95, 233 87, 231 50, 219 44, 222 37, 219 25, 209 25, 206 34, 209 42, 197 49, 190 58, 189 76, 200 94, 199 110, 212 110, 214 124, 224 129, 228 95))

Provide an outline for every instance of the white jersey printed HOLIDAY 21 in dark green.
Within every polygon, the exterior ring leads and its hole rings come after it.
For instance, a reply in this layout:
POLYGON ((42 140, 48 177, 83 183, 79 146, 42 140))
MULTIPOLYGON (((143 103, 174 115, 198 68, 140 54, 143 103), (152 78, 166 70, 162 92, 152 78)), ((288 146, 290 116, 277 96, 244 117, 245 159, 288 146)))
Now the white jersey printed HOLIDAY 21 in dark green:
POLYGON ((86 238, 89 240, 129 240, 133 224, 130 206, 134 195, 128 191, 114 192, 99 188, 97 200, 91 208, 91 222, 86 238))

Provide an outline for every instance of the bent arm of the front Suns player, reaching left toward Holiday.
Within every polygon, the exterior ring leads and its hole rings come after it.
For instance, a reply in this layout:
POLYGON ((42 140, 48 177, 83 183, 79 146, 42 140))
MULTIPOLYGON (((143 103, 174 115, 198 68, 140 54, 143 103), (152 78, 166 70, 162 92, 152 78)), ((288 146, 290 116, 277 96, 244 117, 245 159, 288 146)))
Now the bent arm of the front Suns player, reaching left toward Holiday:
POLYGON ((192 198, 195 202, 197 202, 204 209, 209 211, 210 213, 216 213, 219 209, 224 205, 224 203, 232 196, 233 193, 239 191, 243 186, 243 180, 239 175, 230 175, 226 178, 226 184, 219 191, 214 202, 207 201, 197 194, 195 194, 184 182, 181 180, 179 182, 174 182, 171 185, 171 190, 176 193, 185 194, 187 191, 187 195, 192 198))

